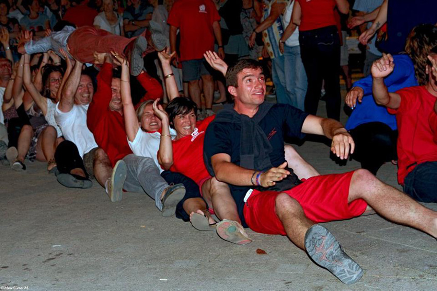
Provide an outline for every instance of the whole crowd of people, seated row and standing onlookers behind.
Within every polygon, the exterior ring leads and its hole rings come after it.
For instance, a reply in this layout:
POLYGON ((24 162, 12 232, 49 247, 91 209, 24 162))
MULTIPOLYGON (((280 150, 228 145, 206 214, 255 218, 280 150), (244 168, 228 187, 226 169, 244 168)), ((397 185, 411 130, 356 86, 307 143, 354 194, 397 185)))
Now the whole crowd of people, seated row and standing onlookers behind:
POLYGON ((355 283, 361 267, 319 223, 376 212, 437 238, 437 212, 417 203, 437 202, 436 8, 0 0, 0 161, 45 162, 65 187, 95 180, 112 202, 145 193, 162 216, 231 243, 250 243, 247 227, 287 236, 355 283), (352 84, 345 36, 356 27, 366 61, 352 84), (276 103, 265 101, 268 77, 276 103), (316 115, 322 88, 327 118, 316 115), (306 134, 362 169, 320 175, 284 143, 306 134), (404 193, 375 177, 389 161, 404 193))

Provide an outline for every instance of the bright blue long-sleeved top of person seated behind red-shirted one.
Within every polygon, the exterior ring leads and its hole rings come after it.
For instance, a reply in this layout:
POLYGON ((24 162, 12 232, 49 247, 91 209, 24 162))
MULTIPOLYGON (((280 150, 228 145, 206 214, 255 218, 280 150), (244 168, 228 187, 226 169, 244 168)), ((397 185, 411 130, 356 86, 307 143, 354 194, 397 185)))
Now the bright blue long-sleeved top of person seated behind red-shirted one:
MULTIPOLYGON (((417 86, 418 83, 414 74, 414 65, 410 57, 406 54, 398 54, 393 55, 393 60, 395 65, 394 70, 384 79, 384 84, 386 84, 388 91, 395 92, 399 89, 417 86)), ((378 121, 396 130, 395 115, 388 113, 385 106, 377 105, 373 99, 372 76, 369 75, 355 82, 353 86, 362 88, 364 96, 361 103, 357 102, 357 106, 352 111, 345 128, 350 130, 360 124, 378 121)))

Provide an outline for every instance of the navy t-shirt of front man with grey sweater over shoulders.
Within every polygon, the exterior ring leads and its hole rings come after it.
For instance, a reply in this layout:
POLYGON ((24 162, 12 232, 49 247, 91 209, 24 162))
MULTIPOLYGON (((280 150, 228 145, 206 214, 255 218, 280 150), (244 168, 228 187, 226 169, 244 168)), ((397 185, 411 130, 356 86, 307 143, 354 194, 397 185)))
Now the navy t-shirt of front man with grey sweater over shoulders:
MULTIPOLYGON (((304 137, 302 125, 307 116, 308 113, 291 105, 275 104, 258 123, 273 148, 269 156, 270 162, 274 167, 285 162, 284 138, 301 139, 304 137)), ((239 123, 217 122, 215 120, 211 122, 205 133, 205 164, 211 166, 210 161, 214 154, 226 153, 231 157, 233 164, 240 165, 240 134, 241 126, 239 123)), ((243 216, 243 199, 246 192, 252 187, 234 185, 229 185, 229 187, 238 208, 242 225, 247 227, 243 216)))

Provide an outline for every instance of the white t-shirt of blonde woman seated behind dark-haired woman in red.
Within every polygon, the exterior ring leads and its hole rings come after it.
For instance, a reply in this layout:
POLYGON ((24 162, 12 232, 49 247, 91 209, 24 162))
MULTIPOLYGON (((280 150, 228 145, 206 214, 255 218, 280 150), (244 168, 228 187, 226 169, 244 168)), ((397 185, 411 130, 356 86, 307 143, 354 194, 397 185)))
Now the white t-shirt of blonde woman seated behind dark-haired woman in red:
MULTIPOLYGON (((170 135, 172 140, 176 137, 176 131, 170 128, 170 135)), ((158 151, 159 143, 161 142, 161 134, 157 131, 155 132, 145 132, 141 128, 138 129, 137 135, 133 142, 129 141, 129 146, 135 156, 139 157, 149 157, 152 158, 158 167, 159 171, 162 173, 163 169, 158 162, 158 151)))

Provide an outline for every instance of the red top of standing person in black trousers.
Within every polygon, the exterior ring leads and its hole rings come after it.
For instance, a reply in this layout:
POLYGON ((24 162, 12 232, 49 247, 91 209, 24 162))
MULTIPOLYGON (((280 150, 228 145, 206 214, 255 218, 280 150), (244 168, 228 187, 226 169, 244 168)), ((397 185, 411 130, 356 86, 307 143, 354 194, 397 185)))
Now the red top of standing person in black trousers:
POLYGON ((334 0, 296 0, 301 8, 299 31, 336 25, 334 0))

